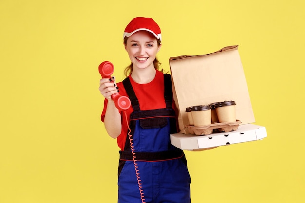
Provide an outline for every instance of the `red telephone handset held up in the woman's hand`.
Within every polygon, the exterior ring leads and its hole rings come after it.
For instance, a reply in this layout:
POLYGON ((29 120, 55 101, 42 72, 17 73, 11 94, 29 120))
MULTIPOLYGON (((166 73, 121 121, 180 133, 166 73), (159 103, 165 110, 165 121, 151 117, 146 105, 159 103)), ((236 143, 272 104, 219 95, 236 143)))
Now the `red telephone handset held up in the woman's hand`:
MULTIPOLYGON (((109 61, 104 61, 98 66, 98 71, 102 78, 111 78, 111 74, 114 73, 114 65, 109 61)), ((122 96, 119 93, 111 95, 114 101, 115 107, 121 111, 127 110, 131 102, 127 96, 122 96)))

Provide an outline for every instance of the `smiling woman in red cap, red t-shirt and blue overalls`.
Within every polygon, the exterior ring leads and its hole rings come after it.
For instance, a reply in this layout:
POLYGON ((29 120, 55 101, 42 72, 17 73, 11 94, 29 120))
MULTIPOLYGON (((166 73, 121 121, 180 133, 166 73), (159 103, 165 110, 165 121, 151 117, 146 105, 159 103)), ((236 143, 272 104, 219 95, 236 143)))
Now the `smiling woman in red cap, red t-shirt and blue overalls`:
POLYGON ((101 79, 105 97, 101 119, 120 147, 118 203, 190 203, 190 175, 182 150, 170 143, 177 132, 172 83, 159 71, 156 54, 161 31, 152 18, 134 18, 125 28, 124 47, 131 60, 126 79, 101 79), (119 111, 111 95, 128 96, 132 106, 119 111), (134 151, 134 155, 133 155, 134 151))

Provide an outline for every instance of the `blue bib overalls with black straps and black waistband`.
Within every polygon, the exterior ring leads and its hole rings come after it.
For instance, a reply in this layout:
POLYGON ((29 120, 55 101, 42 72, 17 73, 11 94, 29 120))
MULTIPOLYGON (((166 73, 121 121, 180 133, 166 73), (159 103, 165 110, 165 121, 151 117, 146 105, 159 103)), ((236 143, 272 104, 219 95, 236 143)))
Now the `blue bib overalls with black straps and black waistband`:
MULTIPOLYGON (((130 134, 133 139, 140 183, 146 203, 190 203, 191 178, 182 150, 170 143, 176 118, 172 109, 171 76, 164 74, 166 108, 140 110, 129 78, 123 81, 133 112, 130 134)), ((118 168, 118 203, 141 203, 129 136, 120 151, 118 168)))

